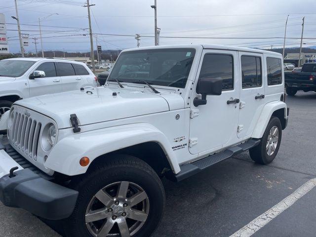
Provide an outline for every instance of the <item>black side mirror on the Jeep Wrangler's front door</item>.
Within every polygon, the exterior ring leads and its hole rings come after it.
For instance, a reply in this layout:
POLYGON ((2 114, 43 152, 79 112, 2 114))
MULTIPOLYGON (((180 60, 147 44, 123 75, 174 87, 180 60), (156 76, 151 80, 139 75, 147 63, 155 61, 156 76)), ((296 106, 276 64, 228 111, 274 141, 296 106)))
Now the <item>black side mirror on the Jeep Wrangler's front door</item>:
POLYGON ((221 95, 222 94, 221 78, 200 78, 197 82, 197 93, 202 95, 201 99, 194 99, 194 106, 206 105, 206 95, 221 95))

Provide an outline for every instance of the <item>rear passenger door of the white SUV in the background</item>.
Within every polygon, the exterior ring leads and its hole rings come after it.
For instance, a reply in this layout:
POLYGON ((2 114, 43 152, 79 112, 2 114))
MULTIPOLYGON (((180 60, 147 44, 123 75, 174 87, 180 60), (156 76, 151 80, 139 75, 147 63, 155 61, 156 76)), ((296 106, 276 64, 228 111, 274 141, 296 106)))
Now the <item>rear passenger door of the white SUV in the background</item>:
POLYGON ((72 63, 57 62, 57 74, 62 80, 62 91, 76 90, 80 88, 81 77, 77 76, 72 63))

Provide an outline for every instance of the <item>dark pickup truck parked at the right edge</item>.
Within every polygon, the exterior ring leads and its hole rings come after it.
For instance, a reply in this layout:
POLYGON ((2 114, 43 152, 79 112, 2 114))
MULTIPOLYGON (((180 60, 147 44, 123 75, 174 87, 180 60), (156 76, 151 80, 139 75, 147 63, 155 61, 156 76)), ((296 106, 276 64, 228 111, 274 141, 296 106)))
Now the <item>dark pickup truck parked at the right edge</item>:
POLYGON ((316 91, 316 63, 305 63, 301 72, 285 72, 285 89, 288 95, 298 90, 316 91))

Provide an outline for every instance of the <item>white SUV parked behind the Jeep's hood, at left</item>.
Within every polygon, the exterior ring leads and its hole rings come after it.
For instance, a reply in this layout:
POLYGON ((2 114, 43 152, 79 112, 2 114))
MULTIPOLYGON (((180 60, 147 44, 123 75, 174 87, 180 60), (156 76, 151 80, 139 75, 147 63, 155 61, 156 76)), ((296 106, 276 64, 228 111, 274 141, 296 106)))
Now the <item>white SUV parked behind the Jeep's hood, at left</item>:
POLYGON ((96 77, 80 62, 56 58, 0 61, 0 119, 13 102, 44 94, 96 86, 96 77))

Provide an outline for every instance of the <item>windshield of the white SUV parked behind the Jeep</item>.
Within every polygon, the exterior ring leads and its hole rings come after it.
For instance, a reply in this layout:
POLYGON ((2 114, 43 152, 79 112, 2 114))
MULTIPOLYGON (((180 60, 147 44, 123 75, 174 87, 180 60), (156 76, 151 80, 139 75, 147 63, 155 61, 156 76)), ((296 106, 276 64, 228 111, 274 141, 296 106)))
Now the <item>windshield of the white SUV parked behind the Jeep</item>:
POLYGON ((35 61, 24 60, 1 60, 0 61, 0 76, 1 77, 21 77, 35 61))

